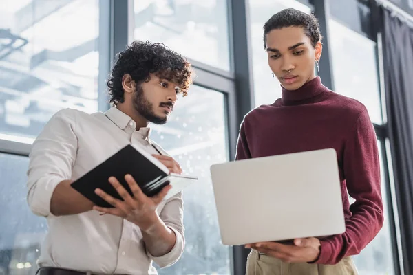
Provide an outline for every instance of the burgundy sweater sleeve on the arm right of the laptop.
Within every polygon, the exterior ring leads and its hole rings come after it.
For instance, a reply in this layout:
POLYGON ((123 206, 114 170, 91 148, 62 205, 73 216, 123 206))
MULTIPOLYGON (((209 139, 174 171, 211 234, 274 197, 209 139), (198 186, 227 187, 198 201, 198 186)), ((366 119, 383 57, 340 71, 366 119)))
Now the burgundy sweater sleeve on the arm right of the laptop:
POLYGON ((336 264, 343 257, 359 254, 383 226, 377 140, 366 110, 346 140, 343 173, 348 194, 355 199, 350 206, 352 216, 346 219, 345 233, 321 241, 316 263, 336 264))

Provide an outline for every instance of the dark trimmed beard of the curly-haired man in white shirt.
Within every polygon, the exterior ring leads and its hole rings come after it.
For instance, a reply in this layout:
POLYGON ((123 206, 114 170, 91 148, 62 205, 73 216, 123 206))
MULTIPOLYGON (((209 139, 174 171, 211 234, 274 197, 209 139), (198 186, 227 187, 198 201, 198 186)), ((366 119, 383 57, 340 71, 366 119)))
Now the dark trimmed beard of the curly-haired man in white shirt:
MULTIPOLYGON (((136 87, 136 92, 132 100, 135 110, 142 115, 145 120, 152 122, 154 124, 165 124, 168 120, 168 115, 165 113, 165 116, 156 115, 153 111, 153 104, 145 98, 143 95, 143 89, 141 85, 136 87)), ((162 102, 160 106, 173 107, 171 102, 162 102)))

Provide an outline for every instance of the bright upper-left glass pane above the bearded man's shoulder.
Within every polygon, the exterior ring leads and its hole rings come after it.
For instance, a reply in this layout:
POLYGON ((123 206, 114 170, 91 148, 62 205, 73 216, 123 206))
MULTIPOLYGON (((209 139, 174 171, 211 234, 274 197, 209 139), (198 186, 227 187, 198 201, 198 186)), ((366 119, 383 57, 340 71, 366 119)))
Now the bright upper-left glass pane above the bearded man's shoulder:
POLYGON ((98 110, 98 0, 0 3, 0 133, 35 137, 63 108, 98 110))

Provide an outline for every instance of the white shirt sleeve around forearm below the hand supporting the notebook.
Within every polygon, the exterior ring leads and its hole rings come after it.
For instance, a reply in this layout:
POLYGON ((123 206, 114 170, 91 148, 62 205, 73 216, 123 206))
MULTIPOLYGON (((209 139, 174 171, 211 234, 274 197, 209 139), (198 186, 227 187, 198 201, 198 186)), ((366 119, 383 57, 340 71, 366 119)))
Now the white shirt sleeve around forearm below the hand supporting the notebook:
POLYGON ((175 233, 176 241, 175 245, 170 252, 162 256, 153 256, 147 250, 147 256, 152 259, 160 268, 169 267, 176 263, 185 248, 185 237, 184 237, 184 207, 182 200, 182 192, 168 199, 162 212, 160 212, 160 219, 171 228, 173 233, 175 233))

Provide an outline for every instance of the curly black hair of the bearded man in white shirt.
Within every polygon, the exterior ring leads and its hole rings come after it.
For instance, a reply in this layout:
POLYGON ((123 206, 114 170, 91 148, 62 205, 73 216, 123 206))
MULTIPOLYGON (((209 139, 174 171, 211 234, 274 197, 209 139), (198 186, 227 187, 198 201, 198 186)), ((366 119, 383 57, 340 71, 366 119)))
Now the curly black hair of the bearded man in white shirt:
POLYGON ((151 79, 149 74, 155 74, 159 78, 178 83, 184 96, 187 96, 189 86, 193 83, 191 64, 162 43, 134 41, 117 57, 107 80, 111 103, 124 101, 122 78, 125 74, 129 74, 137 86, 148 82, 151 79))

